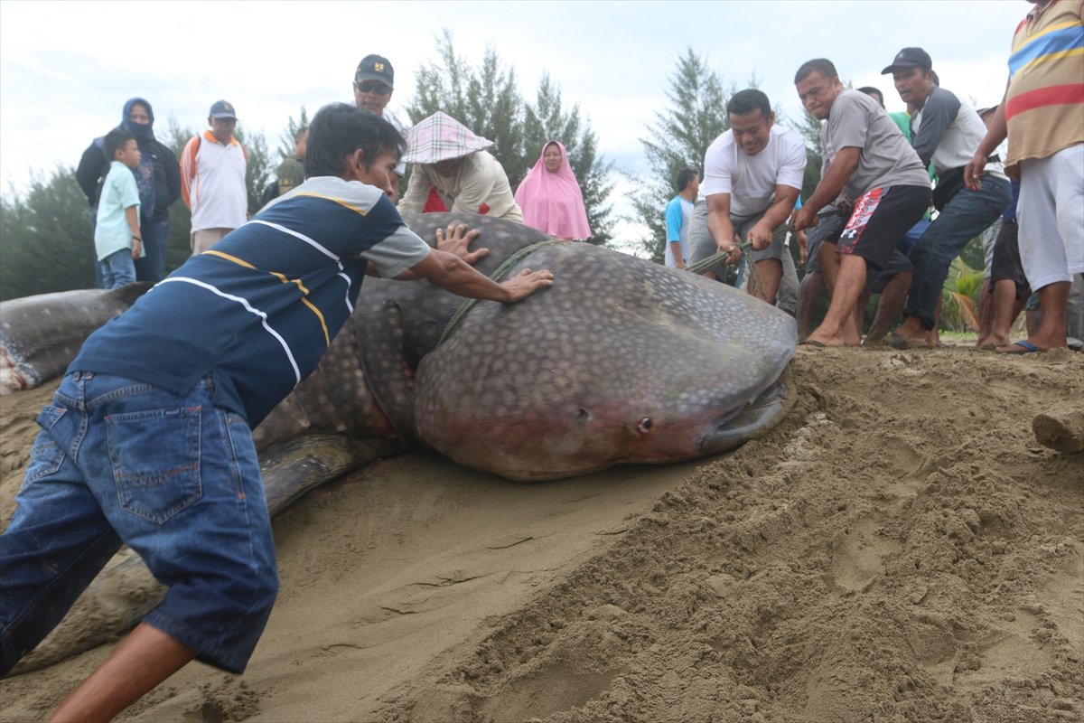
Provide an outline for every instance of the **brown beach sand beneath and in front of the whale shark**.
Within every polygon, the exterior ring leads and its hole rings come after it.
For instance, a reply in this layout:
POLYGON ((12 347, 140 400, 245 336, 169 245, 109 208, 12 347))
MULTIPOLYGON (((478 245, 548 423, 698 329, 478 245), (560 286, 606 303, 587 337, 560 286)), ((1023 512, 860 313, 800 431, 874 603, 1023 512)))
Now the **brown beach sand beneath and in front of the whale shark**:
MULTIPOLYGON (((1035 436, 1080 447, 1084 354, 792 373, 719 457, 522 485, 420 451, 315 490, 247 672, 191 664, 119 720, 1084 720, 1084 453, 1035 436)), ((3 524, 48 393, 0 399, 3 524)), ((0 720, 112 647, 0 681, 0 720)))

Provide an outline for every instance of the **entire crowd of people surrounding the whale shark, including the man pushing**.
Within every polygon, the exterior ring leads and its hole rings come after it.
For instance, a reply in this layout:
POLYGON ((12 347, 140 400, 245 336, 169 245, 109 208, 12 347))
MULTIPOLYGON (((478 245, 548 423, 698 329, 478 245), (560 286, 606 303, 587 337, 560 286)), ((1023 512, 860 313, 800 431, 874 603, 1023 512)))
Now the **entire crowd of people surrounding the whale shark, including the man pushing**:
MULTIPOLYGON (((980 340, 1007 353, 1067 346, 1070 288, 1084 272, 1082 7, 1034 1, 1012 39, 1005 98, 985 122, 940 87, 920 48, 883 70, 908 106, 904 118, 886 113, 876 89, 846 89, 830 61, 803 63, 796 92, 824 121, 825 158, 804 203, 801 139, 775 124, 764 93, 735 93, 731 129, 708 149, 702 176, 678 173, 667 263, 719 283, 737 266, 733 283, 766 302, 793 299, 806 323, 815 279, 830 304, 804 340, 813 347, 859 344, 857 310, 870 293, 886 310, 867 341, 902 312, 891 343, 929 346, 949 263, 1001 219, 989 264, 995 302, 980 340), (801 286, 788 232, 805 257, 801 286), (1010 344, 1008 322, 1031 292, 1040 319, 1010 344)), ((154 140, 151 104, 139 98, 85 153, 79 182, 98 209, 102 283, 158 283, 90 336, 39 417, 0 535, 0 674, 121 543, 169 590, 52 720, 107 720, 192 659, 244 670, 278 592, 250 428, 317 366, 366 273, 504 304, 555 283, 528 270, 498 284, 470 266, 477 232, 453 224, 431 248, 400 210, 490 214, 560 238, 590 236, 559 141, 544 144, 513 194, 491 142, 447 114, 404 139, 385 119, 393 80, 387 59, 363 59, 354 103, 324 106, 298 133, 276 197, 251 219, 246 152, 225 101, 179 162, 154 140), (400 199, 404 163, 414 167, 400 199), (167 208, 178 196, 192 210, 193 255, 163 279, 167 208)))

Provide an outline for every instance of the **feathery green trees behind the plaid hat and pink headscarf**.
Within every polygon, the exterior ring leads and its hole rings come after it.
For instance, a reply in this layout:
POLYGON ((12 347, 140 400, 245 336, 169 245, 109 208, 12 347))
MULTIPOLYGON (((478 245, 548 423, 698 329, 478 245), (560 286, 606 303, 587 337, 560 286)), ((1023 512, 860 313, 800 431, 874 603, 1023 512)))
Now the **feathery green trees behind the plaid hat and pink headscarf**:
MULTIPOLYGON (((534 103, 520 94, 515 70, 505 68, 492 48, 475 68, 455 54, 451 33, 437 43, 440 64, 417 72, 414 101, 406 108, 411 124, 443 111, 472 131, 495 143, 490 153, 504 167, 515 190, 542 155, 546 141, 558 140, 580 182, 591 223, 591 243, 606 245, 612 233, 606 199, 614 185, 612 164, 597 155, 597 139, 580 118, 578 105, 565 111, 560 89, 547 75, 539 83, 534 103)), ((408 176, 410 171, 408 170, 408 176)))

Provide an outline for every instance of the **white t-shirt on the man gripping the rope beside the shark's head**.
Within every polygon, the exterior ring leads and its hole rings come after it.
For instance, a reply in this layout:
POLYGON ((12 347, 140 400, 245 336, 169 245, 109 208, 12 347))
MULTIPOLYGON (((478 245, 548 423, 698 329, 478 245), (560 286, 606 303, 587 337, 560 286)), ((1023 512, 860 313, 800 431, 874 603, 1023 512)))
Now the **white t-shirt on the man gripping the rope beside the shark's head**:
POLYGON ((704 155, 699 197, 728 193, 732 215, 754 216, 772 205, 776 185, 801 190, 804 173, 805 143, 789 128, 772 126, 767 145, 754 156, 746 154, 728 130, 704 155))

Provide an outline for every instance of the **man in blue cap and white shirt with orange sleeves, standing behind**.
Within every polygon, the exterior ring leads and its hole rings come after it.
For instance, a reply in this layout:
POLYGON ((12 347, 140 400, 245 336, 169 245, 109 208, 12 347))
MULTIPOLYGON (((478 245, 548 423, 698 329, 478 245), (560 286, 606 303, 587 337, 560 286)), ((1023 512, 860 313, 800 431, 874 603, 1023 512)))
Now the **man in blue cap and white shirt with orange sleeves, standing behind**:
POLYGON ((210 130, 192 138, 181 152, 181 196, 192 211, 193 256, 248 220, 248 151, 233 137, 233 105, 217 101, 207 125, 210 130))

